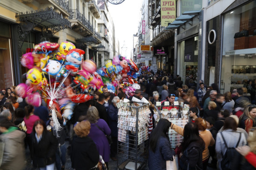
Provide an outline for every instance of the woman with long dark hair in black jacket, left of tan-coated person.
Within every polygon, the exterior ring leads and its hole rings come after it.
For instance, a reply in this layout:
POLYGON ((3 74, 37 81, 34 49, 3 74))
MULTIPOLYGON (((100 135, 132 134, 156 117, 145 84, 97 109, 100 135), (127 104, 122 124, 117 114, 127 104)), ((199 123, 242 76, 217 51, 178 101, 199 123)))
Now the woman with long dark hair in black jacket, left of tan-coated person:
POLYGON ((182 170, 203 169, 202 153, 205 148, 204 140, 199 136, 198 126, 187 123, 183 130, 182 152, 180 167, 182 170), (187 168, 189 166, 189 168, 187 168))

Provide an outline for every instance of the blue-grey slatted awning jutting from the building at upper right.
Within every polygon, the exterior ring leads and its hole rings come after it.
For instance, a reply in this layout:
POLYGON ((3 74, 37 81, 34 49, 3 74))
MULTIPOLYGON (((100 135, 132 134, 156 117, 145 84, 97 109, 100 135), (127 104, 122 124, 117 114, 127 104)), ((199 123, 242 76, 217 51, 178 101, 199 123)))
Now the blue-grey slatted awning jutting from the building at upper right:
MULTIPOLYGON (((192 21, 194 17, 196 17, 200 14, 200 12, 201 12, 201 10, 183 12, 183 14, 181 14, 172 23, 170 23, 169 26, 167 26, 165 28, 165 30, 177 29, 179 27, 182 27, 183 29, 185 29, 185 27, 183 27, 183 25, 192 21)), ((189 24, 192 25, 191 23, 189 23, 189 24)))

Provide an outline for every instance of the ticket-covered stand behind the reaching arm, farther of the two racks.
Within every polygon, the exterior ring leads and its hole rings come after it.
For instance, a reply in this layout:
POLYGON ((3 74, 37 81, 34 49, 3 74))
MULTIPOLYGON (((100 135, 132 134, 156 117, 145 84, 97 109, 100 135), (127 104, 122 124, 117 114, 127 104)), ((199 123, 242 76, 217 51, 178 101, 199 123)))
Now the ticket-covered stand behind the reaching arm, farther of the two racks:
MULTIPOLYGON (((156 114, 154 117, 155 123, 159 121, 159 119, 168 119, 170 122, 174 123, 175 125, 178 125, 180 127, 183 127, 187 124, 187 122, 190 121, 189 116, 189 107, 186 105, 183 105, 181 103, 180 105, 177 103, 177 105, 166 105, 166 106, 155 106, 154 114, 156 114), (172 107, 171 110, 168 110, 168 108, 172 107)), ((183 136, 172 130, 169 129, 169 138, 172 145, 172 148, 175 148, 175 145, 179 142, 182 142, 183 136)))

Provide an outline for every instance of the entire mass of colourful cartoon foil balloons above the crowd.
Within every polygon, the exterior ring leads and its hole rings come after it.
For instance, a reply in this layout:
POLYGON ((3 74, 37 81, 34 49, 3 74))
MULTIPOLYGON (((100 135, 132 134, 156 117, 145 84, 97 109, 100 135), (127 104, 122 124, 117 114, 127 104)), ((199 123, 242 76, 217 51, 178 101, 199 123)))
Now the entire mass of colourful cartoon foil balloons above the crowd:
POLYGON ((48 41, 35 45, 35 51, 23 54, 20 59, 29 71, 26 83, 15 88, 17 95, 37 107, 43 98, 49 107, 54 105, 58 111, 63 109, 64 118, 70 119, 75 103, 93 98, 84 91, 102 91, 102 87, 107 86, 112 93, 119 88, 126 92, 140 76, 131 59, 116 56, 106 60, 105 66, 97 70, 93 60, 84 60, 84 53, 67 41, 60 45, 48 41))

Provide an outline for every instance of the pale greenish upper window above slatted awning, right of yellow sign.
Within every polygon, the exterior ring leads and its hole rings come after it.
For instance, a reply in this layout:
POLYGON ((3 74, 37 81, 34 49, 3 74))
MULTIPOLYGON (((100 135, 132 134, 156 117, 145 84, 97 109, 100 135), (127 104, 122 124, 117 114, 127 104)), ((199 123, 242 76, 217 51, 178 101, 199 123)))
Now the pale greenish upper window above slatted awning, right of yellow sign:
POLYGON ((181 0, 180 14, 185 11, 201 10, 202 0, 181 0))

